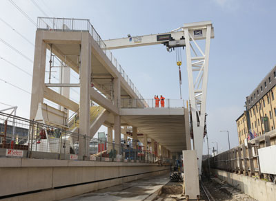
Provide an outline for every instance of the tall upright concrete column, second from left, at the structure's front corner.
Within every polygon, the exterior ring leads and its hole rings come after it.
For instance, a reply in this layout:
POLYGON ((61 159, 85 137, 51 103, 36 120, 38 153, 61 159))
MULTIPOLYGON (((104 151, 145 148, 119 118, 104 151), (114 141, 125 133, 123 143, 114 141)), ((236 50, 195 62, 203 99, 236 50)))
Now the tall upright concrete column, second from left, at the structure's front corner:
MULTIPOLYGON (((90 127, 90 68, 91 68, 91 36, 81 33, 81 67, 80 67, 80 106, 79 133, 88 136, 90 127)), ((88 155, 88 137, 79 140, 79 155, 88 155)))

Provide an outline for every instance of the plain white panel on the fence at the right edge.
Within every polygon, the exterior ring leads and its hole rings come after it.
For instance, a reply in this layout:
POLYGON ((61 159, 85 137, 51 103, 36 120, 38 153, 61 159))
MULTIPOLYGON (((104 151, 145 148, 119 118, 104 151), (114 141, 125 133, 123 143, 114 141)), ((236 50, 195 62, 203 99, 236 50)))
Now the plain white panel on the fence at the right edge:
POLYGON ((259 166, 262 173, 270 173, 276 175, 276 145, 258 149, 259 166))

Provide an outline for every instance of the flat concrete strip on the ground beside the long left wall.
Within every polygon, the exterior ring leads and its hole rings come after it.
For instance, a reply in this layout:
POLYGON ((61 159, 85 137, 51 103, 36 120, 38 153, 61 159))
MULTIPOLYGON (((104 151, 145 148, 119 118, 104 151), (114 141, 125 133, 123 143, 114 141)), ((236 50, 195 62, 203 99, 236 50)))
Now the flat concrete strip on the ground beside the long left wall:
POLYGON ((169 174, 161 176, 143 178, 132 182, 117 185, 107 189, 101 189, 92 193, 75 196, 63 201, 79 200, 145 200, 152 193, 163 187, 170 181, 169 174))

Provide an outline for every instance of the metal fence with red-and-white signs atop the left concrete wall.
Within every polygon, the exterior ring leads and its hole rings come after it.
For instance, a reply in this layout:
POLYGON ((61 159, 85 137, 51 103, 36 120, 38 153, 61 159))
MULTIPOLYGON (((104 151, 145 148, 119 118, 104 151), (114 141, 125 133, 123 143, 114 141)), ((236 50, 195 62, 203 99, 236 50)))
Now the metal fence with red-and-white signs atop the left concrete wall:
POLYGON ((154 150, 142 146, 139 140, 115 143, 104 138, 75 134, 19 116, 0 112, 0 157, 52 158, 60 160, 96 160, 114 162, 167 162, 154 150), (10 118, 7 117, 10 116, 10 118), (15 122, 15 138, 12 126, 15 122), (11 151, 10 151, 11 150, 11 151), (43 154, 41 154, 41 152, 43 154), (8 153, 15 153, 14 155, 8 153))

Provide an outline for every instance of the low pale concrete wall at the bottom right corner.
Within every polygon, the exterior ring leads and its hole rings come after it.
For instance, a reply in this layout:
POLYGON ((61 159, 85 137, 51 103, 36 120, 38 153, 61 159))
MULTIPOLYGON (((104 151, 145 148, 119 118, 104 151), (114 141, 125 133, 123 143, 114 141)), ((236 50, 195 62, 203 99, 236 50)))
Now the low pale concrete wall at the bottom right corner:
POLYGON ((213 174, 257 200, 276 200, 276 185, 253 177, 211 169, 213 174))

